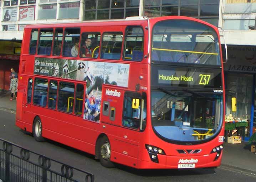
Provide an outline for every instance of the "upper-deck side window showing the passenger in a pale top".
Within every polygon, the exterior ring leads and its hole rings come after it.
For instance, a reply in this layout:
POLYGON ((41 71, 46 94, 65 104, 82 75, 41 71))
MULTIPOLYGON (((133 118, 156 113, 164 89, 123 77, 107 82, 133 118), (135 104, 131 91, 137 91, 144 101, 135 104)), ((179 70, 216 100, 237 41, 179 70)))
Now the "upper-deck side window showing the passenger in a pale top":
POLYGON ((79 51, 80 28, 66 28, 62 55, 77 57, 79 51))

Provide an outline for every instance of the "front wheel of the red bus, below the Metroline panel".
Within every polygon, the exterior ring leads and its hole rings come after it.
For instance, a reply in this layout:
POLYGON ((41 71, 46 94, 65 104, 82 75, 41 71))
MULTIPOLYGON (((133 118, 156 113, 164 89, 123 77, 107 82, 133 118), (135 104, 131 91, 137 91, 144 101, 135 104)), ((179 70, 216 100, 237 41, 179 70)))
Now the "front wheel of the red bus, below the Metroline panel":
POLYGON ((99 142, 99 162, 104 167, 114 167, 113 162, 110 161, 111 147, 107 136, 103 136, 99 142))

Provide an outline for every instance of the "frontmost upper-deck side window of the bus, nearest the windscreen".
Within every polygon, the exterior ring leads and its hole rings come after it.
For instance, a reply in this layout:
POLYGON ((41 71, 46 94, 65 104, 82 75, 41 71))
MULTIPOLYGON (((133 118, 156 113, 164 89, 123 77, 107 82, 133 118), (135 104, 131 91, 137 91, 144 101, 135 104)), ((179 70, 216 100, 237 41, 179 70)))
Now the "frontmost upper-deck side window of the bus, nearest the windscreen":
POLYGON ((124 43, 124 59, 141 61, 143 58, 143 30, 141 27, 127 27, 124 43))

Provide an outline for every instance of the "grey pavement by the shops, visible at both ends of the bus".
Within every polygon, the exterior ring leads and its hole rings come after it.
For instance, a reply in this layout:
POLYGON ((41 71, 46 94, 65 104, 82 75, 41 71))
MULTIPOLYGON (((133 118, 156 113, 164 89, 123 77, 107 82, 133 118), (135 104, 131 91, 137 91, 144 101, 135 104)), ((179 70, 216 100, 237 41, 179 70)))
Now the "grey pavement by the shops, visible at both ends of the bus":
MULTIPOLYGON (((16 100, 10 101, 11 93, 0 91, 0 109, 16 113, 16 100)), ((256 176, 256 154, 251 152, 251 145, 242 141, 240 144, 224 143, 220 168, 256 176)))

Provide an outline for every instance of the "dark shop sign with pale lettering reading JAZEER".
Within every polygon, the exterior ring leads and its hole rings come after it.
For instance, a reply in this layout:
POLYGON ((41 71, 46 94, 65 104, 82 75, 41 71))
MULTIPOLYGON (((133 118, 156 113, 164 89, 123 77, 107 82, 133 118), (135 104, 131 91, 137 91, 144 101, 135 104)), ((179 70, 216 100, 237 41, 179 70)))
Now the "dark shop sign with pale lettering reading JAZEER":
POLYGON ((228 45, 225 71, 256 73, 256 47, 228 45))

